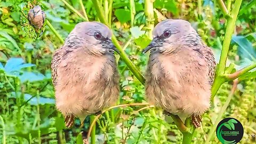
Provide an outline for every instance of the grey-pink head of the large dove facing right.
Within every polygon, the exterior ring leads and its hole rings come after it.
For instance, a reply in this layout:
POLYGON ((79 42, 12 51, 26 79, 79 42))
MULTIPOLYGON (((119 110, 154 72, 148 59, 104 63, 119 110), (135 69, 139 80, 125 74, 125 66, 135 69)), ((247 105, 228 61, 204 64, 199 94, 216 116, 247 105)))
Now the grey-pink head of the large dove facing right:
POLYGON ((86 21, 78 23, 65 42, 73 47, 83 46, 92 53, 119 53, 111 41, 111 35, 111 30, 103 23, 86 21))

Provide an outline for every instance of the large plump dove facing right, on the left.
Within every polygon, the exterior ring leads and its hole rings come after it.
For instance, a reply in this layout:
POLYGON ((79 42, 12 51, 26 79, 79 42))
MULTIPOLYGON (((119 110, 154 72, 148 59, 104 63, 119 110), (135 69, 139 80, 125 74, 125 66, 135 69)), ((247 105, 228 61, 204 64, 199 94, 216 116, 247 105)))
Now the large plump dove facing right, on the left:
POLYGON ((56 107, 67 127, 74 117, 81 123, 87 115, 100 113, 119 98, 111 30, 100 22, 78 23, 54 52, 51 68, 56 107))

